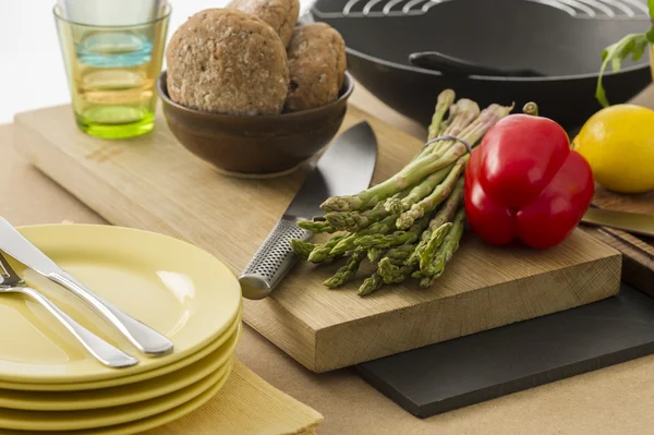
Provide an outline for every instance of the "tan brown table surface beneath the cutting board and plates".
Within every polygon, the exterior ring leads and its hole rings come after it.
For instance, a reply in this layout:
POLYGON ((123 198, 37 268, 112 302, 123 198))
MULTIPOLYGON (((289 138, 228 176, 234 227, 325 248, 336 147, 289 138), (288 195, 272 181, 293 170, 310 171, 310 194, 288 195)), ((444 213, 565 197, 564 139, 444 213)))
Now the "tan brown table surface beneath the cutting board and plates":
MULTIPOLYGON (((358 92, 365 110, 412 132, 415 124, 358 92)), ((15 144, 20 146, 20 144, 15 144)), ((13 150, 11 129, 0 128, 0 215, 14 225, 104 222, 13 150)), ((320 435, 650 435, 654 433, 654 357, 420 420, 349 370, 316 375, 245 327, 238 358, 283 392, 325 418, 320 435)), ((411 370, 411 367, 407 367, 411 370)))

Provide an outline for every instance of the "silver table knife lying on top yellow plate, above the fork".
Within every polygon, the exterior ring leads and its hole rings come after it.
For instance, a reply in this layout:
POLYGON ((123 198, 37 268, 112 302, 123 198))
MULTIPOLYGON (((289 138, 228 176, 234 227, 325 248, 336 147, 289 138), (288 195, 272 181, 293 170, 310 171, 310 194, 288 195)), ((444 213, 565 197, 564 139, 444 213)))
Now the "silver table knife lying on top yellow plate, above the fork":
POLYGON ((160 357, 172 351, 172 341, 95 294, 74 276, 59 267, 3 218, 0 218, 0 250, 70 290, 116 327, 140 351, 150 357, 160 357))

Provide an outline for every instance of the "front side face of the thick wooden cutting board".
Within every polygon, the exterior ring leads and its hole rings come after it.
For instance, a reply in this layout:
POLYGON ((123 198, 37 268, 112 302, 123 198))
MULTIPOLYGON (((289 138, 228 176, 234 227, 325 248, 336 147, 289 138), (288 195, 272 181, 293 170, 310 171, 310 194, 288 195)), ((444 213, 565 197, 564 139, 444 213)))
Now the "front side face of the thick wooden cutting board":
MULTIPOLYGON (((604 245, 604 243, 602 242, 598 243, 604 245)), ((343 324, 320 328, 316 330, 315 366, 307 368, 316 373, 329 372, 332 370, 355 365, 366 361, 376 360, 378 358, 388 357, 395 353, 422 348, 437 342, 448 341, 471 334, 482 333, 484 330, 510 325, 517 322, 523 322, 530 318, 536 318, 544 315, 558 313, 565 310, 578 307, 592 302, 601 301, 606 298, 610 298, 617 294, 620 290, 620 275, 622 262, 621 254, 618 251, 609 246, 606 247, 606 256, 590 262, 570 265, 568 267, 556 270, 544 271, 542 274, 532 275, 514 281, 498 283, 485 288, 484 291, 470 291, 467 293, 458 294, 455 298, 437 299, 421 304, 405 306, 396 311, 385 312, 376 314, 374 316, 362 317, 360 319, 354 319, 343 324), (584 270, 585 267, 590 268, 584 270), (598 274, 601 274, 600 276, 602 276, 602 274, 606 274, 608 278, 606 281, 603 281, 603 286, 601 286, 602 289, 591 293, 583 292, 583 288, 589 286, 590 282, 594 282, 598 274), (538 313, 534 313, 532 310, 529 310, 525 305, 520 303, 520 299, 521 297, 523 297, 521 288, 531 289, 531 293, 537 297, 540 292, 546 291, 546 289, 549 289, 552 286, 554 286, 554 283, 560 286, 562 276, 570 277, 569 279, 564 279, 564 281, 568 283, 570 293, 576 294, 577 301, 574 303, 570 304, 561 302, 554 310, 546 309, 542 310, 538 313), (572 276, 574 276, 574 279, 572 279, 572 276), (576 287, 579 288, 576 289, 576 287), (445 337, 420 339, 415 340, 415 342, 411 341, 411 337, 416 330, 416 326, 404 323, 402 318, 411 317, 412 314, 420 311, 420 318, 422 318, 423 322, 419 325, 419 327, 424 328, 425 326, 431 325, 434 330, 447 330, 446 328, 439 327, 438 322, 435 322, 433 324, 425 324, 424 318, 439 318, 437 317, 437 315, 441 311, 440 307, 444 304, 451 303, 458 303, 461 306, 461 312, 465 310, 465 306, 475 306, 481 311, 481 307, 484 305, 480 302, 475 302, 475 298, 483 298, 481 293, 484 292, 491 293, 501 291, 502 288, 505 288, 505 292, 508 293, 505 295, 504 300, 514 302, 514 310, 507 310, 508 312, 511 312, 513 314, 512 317, 502 319, 498 319, 499 317, 495 317, 495 322, 491 321, 481 328, 475 327, 472 328, 472 330, 470 331, 461 331, 458 335, 450 334, 445 337), (584 294, 590 295, 590 298, 583 298, 584 294), (455 300, 456 302, 452 302, 452 300, 455 300), (522 309, 522 311, 520 311, 520 309, 522 309), (424 311, 433 313, 433 315, 424 315, 424 311), (374 328, 376 325, 379 324, 389 325, 389 329, 392 330, 396 336, 398 335, 398 333, 401 333, 400 336, 404 336, 405 339, 402 340, 396 338, 393 341, 402 342, 402 346, 395 346, 392 348, 388 348, 388 341, 383 341, 383 346, 374 346, 373 341, 367 340, 366 338, 370 337, 371 334, 378 333, 375 331, 374 328), (343 337, 346 335, 350 338, 349 342, 361 342, 366 343, 366 346, 362 346, 361 348, 356 348, 355 351, 352 351, 351 346, 346 346, 343 345, 342 340, 339 340, 340 337, 343 337), (364 353, 362 353, 360 349, 364 349, 364 353), (335 354, 339 355, 339 358, 337 359, 338 362, 336 363, 331 361, 331 357, 335 354), (346 354, 348 355, 348 358, 343 357, 346 354)), ((449 310, 457 311, 451 306, 449 306, 449 310)), ((480 312, 476 314, 469 314, 469 316, 471 318, 482 318, 484 317, 484 314, 488 315, 487 313, 480 312)))

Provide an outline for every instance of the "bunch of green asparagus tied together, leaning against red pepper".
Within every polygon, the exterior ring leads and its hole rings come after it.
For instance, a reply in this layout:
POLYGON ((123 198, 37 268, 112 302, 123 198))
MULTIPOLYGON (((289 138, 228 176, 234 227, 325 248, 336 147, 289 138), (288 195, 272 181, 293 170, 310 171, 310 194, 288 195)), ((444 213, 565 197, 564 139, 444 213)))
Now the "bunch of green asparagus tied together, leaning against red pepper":
POLYGON ((440 93, 425 147, 398 173, 355 195, 330 197, 322 205, 325 216, 298 223, 315 233, 335 233, 320 244, 291 240, 301 257, 320 263, 348 256, 325 286, 343 286, 366 258, 376 271, 360 287, 362 297, 410 277, 427 288, 444 273, 465 225, 468 146, 477 145, 512 110, 491 105, 480 111, 470 99, 455 100, 453 90, 440 93))

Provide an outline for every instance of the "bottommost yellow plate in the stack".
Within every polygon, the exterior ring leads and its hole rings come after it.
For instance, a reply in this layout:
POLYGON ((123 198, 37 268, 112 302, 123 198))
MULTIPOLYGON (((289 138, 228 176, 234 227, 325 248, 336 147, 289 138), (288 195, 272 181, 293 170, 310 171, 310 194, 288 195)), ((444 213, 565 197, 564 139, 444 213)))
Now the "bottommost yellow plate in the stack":
MULTIPOLYGON (((162 426, 195 411, 196 409, 208 402, 211 398, 214 398, 214 396, 216 396, 216 394, 220 391, 220 389, 225 386, 225 383, 229 378, 232 366, 229 367, 227 375, 220 380, 218 380, 215 385, 213 385, 208 390, 195 397, 194 399, 189 400, 187 402, 174 409, 171 409, 170 411, 166 411, 160 414, 156 414, 154 416, 149 416, 147 419, 138 420, 135 422, 119 424, 116 426, 107 426, 85 431, 69 431, 65 432, 65 435, 132 435, 162 426)), ((0 428, 0 435, 44 435, 44 433, 0 428)))

